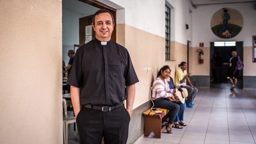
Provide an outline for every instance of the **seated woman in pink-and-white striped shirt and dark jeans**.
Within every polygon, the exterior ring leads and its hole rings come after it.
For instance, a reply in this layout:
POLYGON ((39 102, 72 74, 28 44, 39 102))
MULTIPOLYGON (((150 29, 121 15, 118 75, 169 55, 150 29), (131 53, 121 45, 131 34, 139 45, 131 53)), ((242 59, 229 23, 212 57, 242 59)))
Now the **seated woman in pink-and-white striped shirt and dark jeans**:
POLYGON ((169 115, 169 121, 166 124, 166 130, 168 133, 172 133, 172 125, 174 118, 176 117, 177 113, 180 112, 180 106, 174 101, 174 99, 178 99, 176 96, 176 89, 170 89, 169 84, 166 80, 170 76, 171 70, 168 66, 163 66, 160 71, 157 73, 157 78, 152 85, 152 93, 151 98, 154 102, 155 107, 168 109, 171 111, 169 115), (170 98, 169 101, 167 98, 170 98))

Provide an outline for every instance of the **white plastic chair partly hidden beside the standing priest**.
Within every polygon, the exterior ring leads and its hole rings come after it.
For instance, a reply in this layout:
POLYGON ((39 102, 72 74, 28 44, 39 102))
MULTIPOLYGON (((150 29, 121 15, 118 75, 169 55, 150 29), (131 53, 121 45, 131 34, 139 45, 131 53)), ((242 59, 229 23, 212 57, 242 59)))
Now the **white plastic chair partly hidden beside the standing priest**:
POLYGON ((65 117, 63 117, 63 143, 68 144, 69 124, 75 123, 76 121, 74 116, 68 116, 66 99, 62 98, 62 103, 65 113, 65 117))

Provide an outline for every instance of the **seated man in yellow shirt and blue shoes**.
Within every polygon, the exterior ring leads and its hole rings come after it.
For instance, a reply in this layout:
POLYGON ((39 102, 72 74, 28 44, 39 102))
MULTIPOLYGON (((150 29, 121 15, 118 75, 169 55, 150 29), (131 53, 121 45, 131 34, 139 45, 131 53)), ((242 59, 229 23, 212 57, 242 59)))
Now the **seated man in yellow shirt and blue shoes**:
POLYGON ((187 73, 186 69, 187 69, 187 63, 186 62, 181 62, 181 64, 179 64, 179 67, 181 67, 178 71, 176 71, 175 74, 175 87, 179 88, 180 86, 182 86, 183 88, 186 88, 188 91, 188 97, 186 100, 186 105, 187 107, 192 108, 194 106, 194 99, 197 95, 198 89, 192 85, 192 83, 190 82, 189 79, 189 75, 191 73, 187 73), (186 82, 188 82, 189 85, 186 84, 186 82))

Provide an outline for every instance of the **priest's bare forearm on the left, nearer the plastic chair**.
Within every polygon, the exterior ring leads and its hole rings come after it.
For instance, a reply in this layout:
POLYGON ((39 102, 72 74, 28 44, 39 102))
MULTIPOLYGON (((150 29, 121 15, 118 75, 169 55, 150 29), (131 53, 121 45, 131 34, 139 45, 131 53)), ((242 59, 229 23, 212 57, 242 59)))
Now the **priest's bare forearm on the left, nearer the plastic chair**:
POLYGON ((80 88, 70 86, 70 95, 76 117, 77 114, 80 112, 80 88))

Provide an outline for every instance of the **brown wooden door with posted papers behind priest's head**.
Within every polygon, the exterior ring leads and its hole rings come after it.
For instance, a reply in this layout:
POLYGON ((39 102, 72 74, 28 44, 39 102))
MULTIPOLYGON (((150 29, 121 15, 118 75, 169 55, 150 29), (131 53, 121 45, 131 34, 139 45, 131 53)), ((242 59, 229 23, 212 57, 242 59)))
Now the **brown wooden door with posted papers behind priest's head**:
MULTIPOLYGON (((115 12, 111 12, 111 13, 114 17, 114 20, 116 20, 115 12)), ((82 46, 83 44, 85 44, 85 37, 89 36, 88 34, 86 35, 86 33, 85 33, 85 27, 91 26, 92 19, 93 19, 93 15, 79 18, 79 46, 82 46)), ((91 38, 92 38, 92 40, 94 40, 95 39, 95 31, 93 30, 93 26, 91 26, 91 31, 92 31, 91 38)), ((111 34, 111 40, 116 42, 116 26, 114 26, 114 30, 111 34)))

